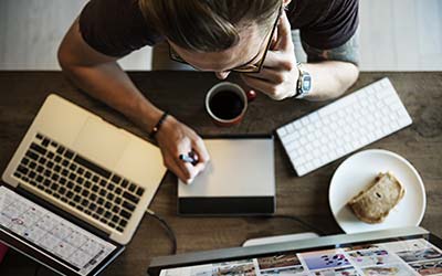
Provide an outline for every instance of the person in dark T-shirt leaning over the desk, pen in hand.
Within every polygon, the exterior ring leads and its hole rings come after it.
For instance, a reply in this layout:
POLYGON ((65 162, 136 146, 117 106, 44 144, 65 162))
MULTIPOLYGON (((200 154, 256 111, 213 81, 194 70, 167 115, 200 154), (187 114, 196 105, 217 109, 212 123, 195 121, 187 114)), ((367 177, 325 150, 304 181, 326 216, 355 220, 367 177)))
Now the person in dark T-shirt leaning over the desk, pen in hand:
POLYGON ((190 183, 210 159, 202 139, 144 97, 118 59, 166 42, 171 60, 220 79, 239 72, 251 89, 276 100, 324 100, 358 77, 357 26, 357 0, 91 0, 57 57, 78 87, 150 134, 165 166, 190 183), (292 29, 299 30, 307 63, 296 61, 292 29), (196 164, 179 159, 187 152, 196 152, 196 164))

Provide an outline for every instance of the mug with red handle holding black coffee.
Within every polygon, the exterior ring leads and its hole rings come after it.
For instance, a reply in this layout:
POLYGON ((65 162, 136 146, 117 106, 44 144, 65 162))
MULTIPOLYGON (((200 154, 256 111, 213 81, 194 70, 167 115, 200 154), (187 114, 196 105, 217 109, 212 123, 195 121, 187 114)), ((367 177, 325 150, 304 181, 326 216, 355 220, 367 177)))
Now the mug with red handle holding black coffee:
POLYGON ((213 123, 229 127, 244 117, 249 102, 256 97, 254 91, 244 92, 238 84, 222 82, 214 85, 206 95, 206 110, 213 123))

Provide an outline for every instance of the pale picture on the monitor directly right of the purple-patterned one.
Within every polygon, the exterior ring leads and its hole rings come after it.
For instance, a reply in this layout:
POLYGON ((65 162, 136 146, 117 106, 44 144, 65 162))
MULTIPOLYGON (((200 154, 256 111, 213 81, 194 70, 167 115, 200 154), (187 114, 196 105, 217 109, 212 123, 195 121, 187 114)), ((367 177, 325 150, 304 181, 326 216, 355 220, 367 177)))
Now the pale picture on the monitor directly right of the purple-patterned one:
POLYGON ((348 253, 354 265, 359 267, 385 265, 397 262, 397 257, 389 254, 386 250, 355 251, 348 253))

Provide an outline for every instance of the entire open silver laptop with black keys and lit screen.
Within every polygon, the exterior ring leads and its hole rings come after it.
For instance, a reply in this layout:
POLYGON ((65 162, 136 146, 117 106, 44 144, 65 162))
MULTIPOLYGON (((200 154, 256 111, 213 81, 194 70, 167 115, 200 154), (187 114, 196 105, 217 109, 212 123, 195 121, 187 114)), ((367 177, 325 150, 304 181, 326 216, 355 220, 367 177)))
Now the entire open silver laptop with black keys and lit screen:
POLYGON ((165 172, 157 147, 52 94, 2 174, 0 240, 61 274, 95 275, 165 172))

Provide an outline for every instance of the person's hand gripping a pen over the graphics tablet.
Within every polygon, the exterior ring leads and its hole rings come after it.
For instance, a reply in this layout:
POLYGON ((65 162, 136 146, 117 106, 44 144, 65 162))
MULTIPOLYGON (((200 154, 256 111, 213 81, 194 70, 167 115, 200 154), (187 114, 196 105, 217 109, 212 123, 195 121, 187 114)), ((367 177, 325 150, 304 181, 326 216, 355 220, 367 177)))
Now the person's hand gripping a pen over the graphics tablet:
POLYGON ((168 116, 156 135, 161 149, 165 166, 185 183, 191 183, 194 177, 204 170, 210 157, 202 139, 189 127, 168 116), (180 155, 197 153, 198 163, 180 160, 180 155))

